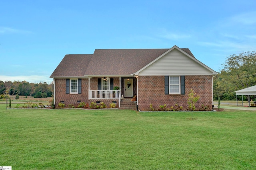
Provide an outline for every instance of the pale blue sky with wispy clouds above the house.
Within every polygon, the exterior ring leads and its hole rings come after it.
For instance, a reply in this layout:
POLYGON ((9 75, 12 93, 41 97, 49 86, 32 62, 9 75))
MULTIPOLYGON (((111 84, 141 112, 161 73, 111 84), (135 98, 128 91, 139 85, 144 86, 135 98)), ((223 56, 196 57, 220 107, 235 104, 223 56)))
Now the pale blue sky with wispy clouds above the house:
POLYGON ((215 71, 256 51, 255 0, 1 0, 0 80, 52 82, 66 54, 189 48, 215 71))

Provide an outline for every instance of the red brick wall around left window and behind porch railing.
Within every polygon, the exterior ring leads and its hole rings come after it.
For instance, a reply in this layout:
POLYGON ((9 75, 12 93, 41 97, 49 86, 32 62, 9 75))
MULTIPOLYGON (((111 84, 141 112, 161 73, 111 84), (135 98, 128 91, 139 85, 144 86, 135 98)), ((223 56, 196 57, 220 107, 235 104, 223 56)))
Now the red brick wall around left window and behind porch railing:
MULTIPOLYGON (((119 87, 119 77, 114 78, 113 85, 119 87)), ((90 79, 90 90, 98 90, 98 77, 90 79)), ((56 108, 59 108, 60 101, 64 101, 65 107, 73 104, 74 107, 78 107, 78 104, 84 102, 89 104, 91 102, 104 102, 107 106, 113 101, 116 101, 116 107, 118 107, 118 99, 92 99, 88 100, 88 79, 82 79, 82 93, 81 94, 66 94, 66 79, 55 79, 55 104, 56 108)))

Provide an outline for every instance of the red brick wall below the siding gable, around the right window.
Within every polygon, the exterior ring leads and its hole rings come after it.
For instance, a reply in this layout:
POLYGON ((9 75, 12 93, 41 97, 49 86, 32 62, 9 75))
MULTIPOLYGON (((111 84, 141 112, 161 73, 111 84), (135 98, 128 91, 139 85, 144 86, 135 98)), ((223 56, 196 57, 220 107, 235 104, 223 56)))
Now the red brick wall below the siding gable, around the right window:
POLYGON ((178 104, 183 110, 188 108, 188 93, 193 89, 200 99, 196 108, 209 106, 212 109, 212 76, 185 76, 185 94, 164 94, 164 76, 138 76, 138 106, 140 110, 150 110, 150 104, 158 110, 160 105, 167 108, 178 104))

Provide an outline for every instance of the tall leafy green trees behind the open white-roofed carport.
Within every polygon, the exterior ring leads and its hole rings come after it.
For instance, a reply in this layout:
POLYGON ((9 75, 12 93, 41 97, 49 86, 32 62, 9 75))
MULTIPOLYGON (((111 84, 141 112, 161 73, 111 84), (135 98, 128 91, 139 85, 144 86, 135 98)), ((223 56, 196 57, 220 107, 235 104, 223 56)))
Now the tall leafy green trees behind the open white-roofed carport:
MULTIPOLYGON (((226 57, 222 69, 214 77, 214 100, 236 100, 235 91, 256 85, 256 52, 247 51, 226 57)), ((242 100, 242 96, 238 96, 242 100)), ((247 96, 244 96, 246 100, 247 96)), ((255 96, 250 96, 255 100, 255 96)))

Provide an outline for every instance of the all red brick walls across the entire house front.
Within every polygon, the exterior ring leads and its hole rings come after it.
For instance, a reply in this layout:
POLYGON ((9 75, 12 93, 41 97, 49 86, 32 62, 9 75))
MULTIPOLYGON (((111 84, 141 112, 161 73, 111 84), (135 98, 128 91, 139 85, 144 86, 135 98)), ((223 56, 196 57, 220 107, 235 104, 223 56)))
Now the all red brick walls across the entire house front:
MULTIPOLYGON (((120 86, 119 77, 114 78, 113 86, 120 86)), ((128 77, 127 77, 128 78, 128 77)), ((132 78, 132 77, 129 77, 132 78)), ((136 78, 133 77, 134 94, 136 94, 136 78)), ((138 76, 138 106, 140 110, 150 110, 150 104, 157 110, 160 105, 166 104, 167 108, 178 104, 183 110, 188 108, 188 93, 193 89, 200 99, 196 108, 209 106, 212 109, 212 76, 185 76, 185 95, 164 94, 164 76, 138 76)), ((88 100, 88 79, 82 79, 82 94, 66 94, 66 79, 55 79, 55 103, 59 108, 60 101, 64 101, 65 107, 69 104, 78 106, 79 102, 90 104, 91 102, 104 102, 107 106, 118 99, 94 99, 88 100)), ((90 79, 90 90, 98 90, 98 77, 90 79)), ((124 77, 121 78, 121 94, 124 94, 124 77)))

